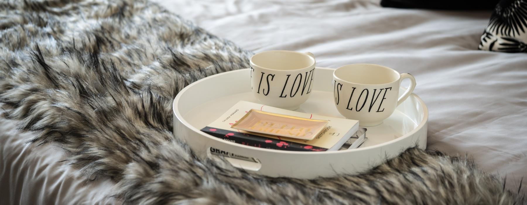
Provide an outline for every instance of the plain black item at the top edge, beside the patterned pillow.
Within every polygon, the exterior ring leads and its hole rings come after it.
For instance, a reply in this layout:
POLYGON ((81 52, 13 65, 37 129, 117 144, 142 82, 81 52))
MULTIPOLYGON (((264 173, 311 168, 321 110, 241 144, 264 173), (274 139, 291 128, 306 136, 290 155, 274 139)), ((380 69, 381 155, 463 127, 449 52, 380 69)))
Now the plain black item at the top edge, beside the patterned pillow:
POLYGON ((441 10, 492 10, 496 7, 499 0, 482 0, 482 1, 422 1, 422 0, 381 0, 380 5, 383 7, 394 8, 424 8, 424 9, 441 9, 441 10))

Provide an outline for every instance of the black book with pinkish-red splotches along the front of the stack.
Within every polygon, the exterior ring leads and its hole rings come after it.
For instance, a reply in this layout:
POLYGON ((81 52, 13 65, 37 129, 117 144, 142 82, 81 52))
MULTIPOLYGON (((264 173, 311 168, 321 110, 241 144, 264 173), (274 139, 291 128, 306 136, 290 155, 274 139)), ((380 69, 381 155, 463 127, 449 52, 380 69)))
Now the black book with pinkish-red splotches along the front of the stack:
POLYGON ((275 150, 288 150, 288 151, 326 151, 326 148, 314 147, 308 144, 301 144, 296 142, 290 142, 286 140, 279 140, 274 138, 266 138, 265 136, 259 136, 255 134, 248 134, 230 130, 223 130, 219 128, 211 128, 206 126, 201 131, 220 138, 235 142, 238 144, 248 145, 257 148, 275 149, 275 150))

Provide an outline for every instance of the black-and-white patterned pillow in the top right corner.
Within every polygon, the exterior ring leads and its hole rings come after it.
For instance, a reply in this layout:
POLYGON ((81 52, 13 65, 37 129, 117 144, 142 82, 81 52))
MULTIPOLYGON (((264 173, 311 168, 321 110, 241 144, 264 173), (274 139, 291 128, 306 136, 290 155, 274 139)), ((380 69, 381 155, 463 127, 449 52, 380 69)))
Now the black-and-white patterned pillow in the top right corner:
POLYGON ((496 5, 479 49, 527 52, 527 0, 502 0, 496 5))

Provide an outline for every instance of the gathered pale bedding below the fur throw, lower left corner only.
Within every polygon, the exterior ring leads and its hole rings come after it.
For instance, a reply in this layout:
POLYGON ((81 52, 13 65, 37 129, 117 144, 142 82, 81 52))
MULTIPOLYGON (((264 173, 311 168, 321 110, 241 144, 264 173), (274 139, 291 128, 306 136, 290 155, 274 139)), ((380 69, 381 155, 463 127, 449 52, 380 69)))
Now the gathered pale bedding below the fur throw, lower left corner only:
POLYGON ((0 118, 0 204, 112 204, 110 180, 83 183, 60 148, 26 143, 16 121, 0 118))

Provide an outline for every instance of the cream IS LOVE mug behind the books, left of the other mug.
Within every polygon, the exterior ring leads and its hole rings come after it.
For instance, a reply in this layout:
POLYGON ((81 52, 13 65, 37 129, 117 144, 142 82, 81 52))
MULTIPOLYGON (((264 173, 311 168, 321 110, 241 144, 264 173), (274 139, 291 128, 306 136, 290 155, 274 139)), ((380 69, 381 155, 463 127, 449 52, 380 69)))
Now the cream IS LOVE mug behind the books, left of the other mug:
POLYGON ((265 51, 253 55, 250 64, 252 93, 265 105, 296 110, 315 86, 312 53, 265 51))

